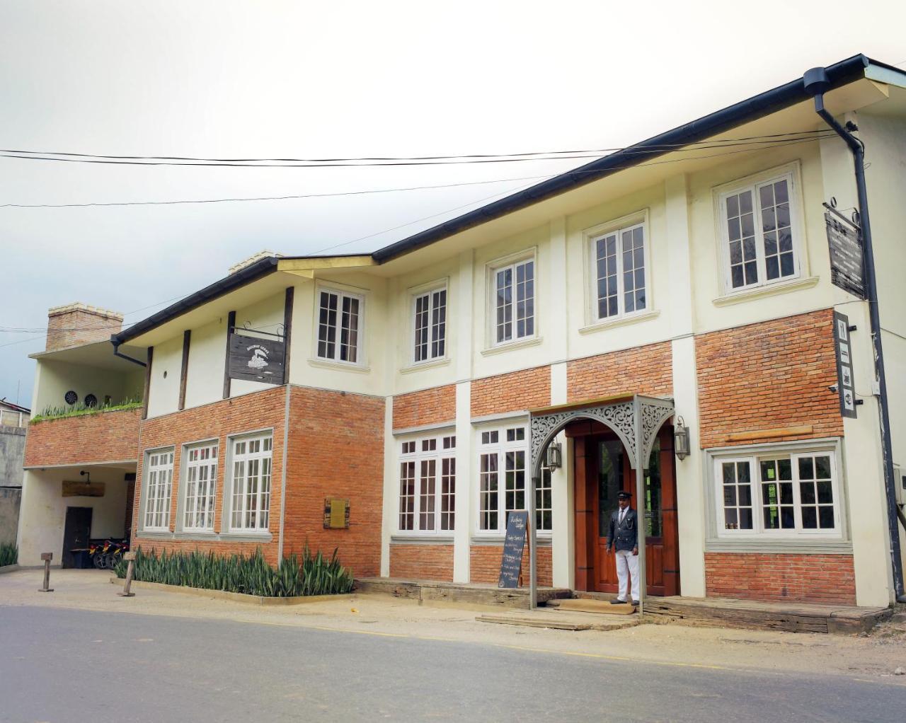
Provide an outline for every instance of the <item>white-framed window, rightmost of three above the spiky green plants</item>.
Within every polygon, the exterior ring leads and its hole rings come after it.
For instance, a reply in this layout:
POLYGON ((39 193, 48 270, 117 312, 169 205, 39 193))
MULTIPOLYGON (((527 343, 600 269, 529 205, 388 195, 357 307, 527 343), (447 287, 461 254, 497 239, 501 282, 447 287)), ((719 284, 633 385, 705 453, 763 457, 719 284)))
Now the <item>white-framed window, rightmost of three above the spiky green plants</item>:
POLYGON ((224 485, 224 520, 221 526, 231 533, 263 534, 270 532, 271 499, 274 496, 274 434, 273 431, 255 432, 253 434, 230 437, 227 440, 229 457, 227 458, 226 477, 229 484, 224 485), (249 451, 249 446, 258 443, 255 452, 249 451), (240 445, 245 444, 243 451, 237 451, 240 445), (248 505, 247 491, 248 468, 251 462, 257 462, 257 487, 255 488, 255 524, 248 525, 248 516, 251 512, 248 505), (243 464, 241 487, 237 485, 237 465, 243 464), (267 488, 261 484, 262 470, 267 469, 267 488), (236 503, 239 503, 238 505, 236 503), (264 513, 264 514, 262 514, 264 513), (236 524, 238 515, 239 524, 236 524))

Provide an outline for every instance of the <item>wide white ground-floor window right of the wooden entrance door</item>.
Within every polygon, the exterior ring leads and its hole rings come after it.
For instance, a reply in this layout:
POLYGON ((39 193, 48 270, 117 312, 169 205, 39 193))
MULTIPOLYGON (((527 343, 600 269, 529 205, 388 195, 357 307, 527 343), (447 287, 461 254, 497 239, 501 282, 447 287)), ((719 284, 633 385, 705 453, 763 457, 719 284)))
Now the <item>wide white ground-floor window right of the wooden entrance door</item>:
POLYGON ((840 534, 833 449, 728 454, 714 465, 718 535, 840 534))

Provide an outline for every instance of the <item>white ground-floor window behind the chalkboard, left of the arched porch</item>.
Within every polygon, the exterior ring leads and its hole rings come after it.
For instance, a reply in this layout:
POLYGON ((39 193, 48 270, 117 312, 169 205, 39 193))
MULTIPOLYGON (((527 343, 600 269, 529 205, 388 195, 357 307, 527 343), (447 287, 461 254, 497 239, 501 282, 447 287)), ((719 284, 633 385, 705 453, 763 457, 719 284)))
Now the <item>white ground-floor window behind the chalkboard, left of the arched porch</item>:
MULTIPOLYGON (((528 435, 525 426, 483 429, 478 433, 478 530, 503 533, 509 513, 528 508, 526 475, 528 435)), ((535 488, 535 529, 553 528, 551 471, 542 469, 535 488)))

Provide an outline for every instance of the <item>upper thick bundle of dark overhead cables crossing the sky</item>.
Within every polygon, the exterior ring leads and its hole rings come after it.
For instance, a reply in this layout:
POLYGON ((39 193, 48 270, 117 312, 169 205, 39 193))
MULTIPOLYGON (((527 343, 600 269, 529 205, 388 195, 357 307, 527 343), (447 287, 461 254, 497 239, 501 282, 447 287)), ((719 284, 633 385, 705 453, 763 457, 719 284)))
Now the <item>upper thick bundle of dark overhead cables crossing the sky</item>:
POLYGON ((384 166, 450 166, 473 163, 514 163, 530 160, 569 160, 599 158, 617 151, 631 150, 640 155, 680 149, 727 148, 736 145, 772 143, 776 140, 805 140, 826 134, 827 130, 803 130, 738 139, 699 140, 689 143, 666 143, 644 148, 631 147, 582 150, 541 150, 527 153, 489 153, 460 156, 361 157, 323 159, 217 159, 193 156, 113 156, 69 151, 0 149, 0 157, 26 160, 56 160, 70 163, 103 163, 120 166, 214 166, 225 168, 348 168, 384 166))

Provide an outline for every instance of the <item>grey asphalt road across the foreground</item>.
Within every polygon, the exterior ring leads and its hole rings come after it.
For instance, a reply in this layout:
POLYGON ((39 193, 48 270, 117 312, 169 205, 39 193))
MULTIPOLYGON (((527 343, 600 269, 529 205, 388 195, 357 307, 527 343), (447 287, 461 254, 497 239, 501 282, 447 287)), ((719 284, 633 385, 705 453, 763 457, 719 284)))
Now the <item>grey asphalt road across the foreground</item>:
POLYGON ((0 721, 15 723, 901 723, 904 711, 906 688, 839 675, 714 670, 256 622, 0 607, 0 721))

